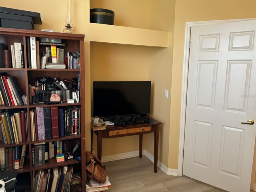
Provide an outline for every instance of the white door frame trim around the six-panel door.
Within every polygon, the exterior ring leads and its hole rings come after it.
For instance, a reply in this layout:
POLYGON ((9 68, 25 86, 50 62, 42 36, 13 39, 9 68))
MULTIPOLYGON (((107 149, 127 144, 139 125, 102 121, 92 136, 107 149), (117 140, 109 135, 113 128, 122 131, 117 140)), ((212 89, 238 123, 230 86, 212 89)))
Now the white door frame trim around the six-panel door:
MULTIPOLYGON (((184 140, 185 140, 185 121, 186 121, 186 96, 187 96, 187 85, 188 85, 188 62, 189 62, 189 43, 190 43, 190 32, 192 27, 205 26, 212 24, 221 24, 229 22, 239 22, 255 20, 255 18, 247 19, 231 19, 231 20, 213 20, 213 21, 199 21, 199 22, 186 22, 185 30, 185 44, 184 44, 184 60, 183 60, 183 72, 182 72, 182 97, 181 97, 181 111, 180 111, 180 140, 179 140, 179 154, 178 154, 178 176, 182 176, 183 173, 183 151, 184 151, 184 140)), ((255 154, 255 152, 254 152, 255 154)), ((254 176, 253 181, 254 181, 254 176)), ((252 184, 251 184, 252 186, 252 184)))

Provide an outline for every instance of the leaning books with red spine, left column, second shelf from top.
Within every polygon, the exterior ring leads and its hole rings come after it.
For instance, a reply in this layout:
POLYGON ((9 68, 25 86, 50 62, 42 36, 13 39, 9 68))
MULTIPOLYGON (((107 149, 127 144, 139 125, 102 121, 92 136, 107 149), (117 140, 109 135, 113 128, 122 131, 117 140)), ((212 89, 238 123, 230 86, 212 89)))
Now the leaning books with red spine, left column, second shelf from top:
POLYGON ((14 106, 26 104, 26 96, 22 95, 18 81, 14 76, 1 73, 0 101, 2 105, 14 106))

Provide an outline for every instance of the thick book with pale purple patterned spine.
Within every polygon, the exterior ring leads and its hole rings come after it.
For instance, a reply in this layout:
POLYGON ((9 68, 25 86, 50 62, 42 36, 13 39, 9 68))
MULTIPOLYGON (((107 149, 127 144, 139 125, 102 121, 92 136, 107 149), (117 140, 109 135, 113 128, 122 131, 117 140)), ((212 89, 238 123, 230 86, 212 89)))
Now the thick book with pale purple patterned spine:
POLYGON ((36 108, 36 119, 37 119, 37 130, 38 130, 38 140, 46 139, 46 128, 45 128, 45 118, 44 118, 44 108, 36 108))

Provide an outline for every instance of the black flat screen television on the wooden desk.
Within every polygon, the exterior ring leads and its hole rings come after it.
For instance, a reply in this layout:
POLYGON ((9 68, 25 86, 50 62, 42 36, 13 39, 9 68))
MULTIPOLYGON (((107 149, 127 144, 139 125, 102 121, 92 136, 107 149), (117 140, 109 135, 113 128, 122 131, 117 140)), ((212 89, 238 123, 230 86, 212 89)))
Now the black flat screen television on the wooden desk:
POLYGON ((93 116, 150 114, 150 81, 93 82, 93 116))

